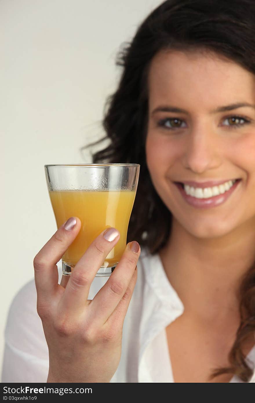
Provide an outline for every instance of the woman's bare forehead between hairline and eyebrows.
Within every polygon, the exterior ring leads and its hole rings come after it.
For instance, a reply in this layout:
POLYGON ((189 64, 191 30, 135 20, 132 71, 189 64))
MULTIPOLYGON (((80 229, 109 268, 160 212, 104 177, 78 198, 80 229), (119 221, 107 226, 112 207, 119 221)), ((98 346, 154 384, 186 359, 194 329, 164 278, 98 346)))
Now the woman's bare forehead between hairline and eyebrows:
POLYGON ((148 74, 149 103, 171 102, 214 108, 238 101, 254 102, 255 76, 213 52, 161 51, 148 74))

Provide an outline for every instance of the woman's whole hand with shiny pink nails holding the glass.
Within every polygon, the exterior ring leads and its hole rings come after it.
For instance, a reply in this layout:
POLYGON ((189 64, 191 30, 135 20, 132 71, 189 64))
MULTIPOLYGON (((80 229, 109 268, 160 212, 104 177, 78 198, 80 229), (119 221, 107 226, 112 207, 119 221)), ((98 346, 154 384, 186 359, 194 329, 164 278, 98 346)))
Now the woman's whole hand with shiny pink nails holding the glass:
POLYGON ((140 247, 136 241, 126 246, 106 284, 88 300, 92 280, 120 235, 115 230, 114 238, 114 229, 101 233, 64 288, 58 284, 56 263, 80 228, 79 218, 70 218, 33 262, 37 312, 49 349, 48 382, 110 382, 120 361, 122 327, 137 279, 140 247))

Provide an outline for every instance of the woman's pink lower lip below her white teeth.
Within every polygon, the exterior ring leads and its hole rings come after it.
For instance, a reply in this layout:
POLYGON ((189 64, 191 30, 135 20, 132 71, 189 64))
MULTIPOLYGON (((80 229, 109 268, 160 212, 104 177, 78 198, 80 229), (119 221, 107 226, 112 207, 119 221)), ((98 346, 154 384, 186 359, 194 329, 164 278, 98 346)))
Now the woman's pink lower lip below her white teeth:
POLYGON ((180 182, 174 182, 174 185, 180 191, 180 194, 182 195, 185 202, 187 202, 191 206, 193 206, 195 208, 210 208, 210 207, 219 206, 220 204, 223 204, 224 202, 226 202, 226 200, 232 195, 232 193, 238 187, 240 182, 241 182, 241 179, 237 179, 236 182, 234 183, 234 185, 232 187, 230 187, 230 189, 227 190, 225 193, 220 194, 218 196, 209 197, 208 199, 197 199, 196 197, 187 195, 185 193, 185 190, 182 188, 182 185, 180 182))

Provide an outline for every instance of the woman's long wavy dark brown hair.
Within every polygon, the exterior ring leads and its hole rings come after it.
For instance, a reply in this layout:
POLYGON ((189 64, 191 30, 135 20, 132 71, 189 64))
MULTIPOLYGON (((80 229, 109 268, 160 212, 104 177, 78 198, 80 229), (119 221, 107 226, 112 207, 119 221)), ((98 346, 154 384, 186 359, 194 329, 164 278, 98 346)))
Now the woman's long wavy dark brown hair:
MULTIPOLYGON (((96 152, 93 162, 141 165, 128 241, 136 239, 151 253, 165 245, 172 221, 151 183, 145 159, 147 73, 153 56, 162 49, 209 50, 255 74, 255 0, 168 0, 145 19, 118 55, 122 76, 108 99, 103 121, 104 139, 110 139, 110 145, 96 152)), ((253 371, 242 345, 254 332, 255 265, 240 285, 240 326, 229 353, 230 367, 215 370, 212 377, 232 373, 249 381, 253 371)))

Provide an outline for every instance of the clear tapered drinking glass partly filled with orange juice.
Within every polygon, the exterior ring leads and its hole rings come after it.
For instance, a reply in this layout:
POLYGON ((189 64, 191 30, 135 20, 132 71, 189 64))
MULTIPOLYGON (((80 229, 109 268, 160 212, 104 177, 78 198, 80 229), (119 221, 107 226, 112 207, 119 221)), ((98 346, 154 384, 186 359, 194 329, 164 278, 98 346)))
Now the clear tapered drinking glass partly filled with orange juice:
POLYGON ((139 179, 139 164, 45 165, 46 181, 59 228, 79 217, 81 230, 62 256, 62 273, 70 275, 91 242, 114 227, 120 239, 96 277, 110 276, 126 247, 129 219, 139 179))

